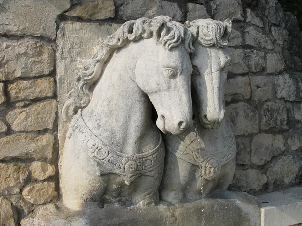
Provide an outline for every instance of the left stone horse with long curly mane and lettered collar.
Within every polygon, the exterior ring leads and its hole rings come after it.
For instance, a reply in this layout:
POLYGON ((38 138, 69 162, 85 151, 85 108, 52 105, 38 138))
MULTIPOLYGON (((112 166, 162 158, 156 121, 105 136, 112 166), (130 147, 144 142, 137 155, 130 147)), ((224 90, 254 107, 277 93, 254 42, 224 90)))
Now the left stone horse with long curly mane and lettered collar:
POLYGON ((64 204, 153 205, 159 201, 164 133, 192 121, 193 36, 170 17, 124 23, 84 62, 63 107, 71 120, 60 160, 64 204))

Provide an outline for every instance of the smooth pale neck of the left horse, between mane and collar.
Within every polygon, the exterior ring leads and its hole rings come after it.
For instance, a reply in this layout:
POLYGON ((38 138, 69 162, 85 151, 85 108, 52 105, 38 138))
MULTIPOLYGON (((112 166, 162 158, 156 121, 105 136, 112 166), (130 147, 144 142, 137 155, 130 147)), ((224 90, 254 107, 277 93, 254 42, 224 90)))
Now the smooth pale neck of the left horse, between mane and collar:
MULTIPOLYGON (((134 45, 133 45, 134 46, 134 45)), ((83 118, 92 132, 108 146, 122 153, 152 149, 160 139, 151 120, 151 104, 135 81, 137 56, 130 61, 130 49, 114 53, 96 85, 83 118)), ((132 50, 133 51, 133 50, 132 50)), ((133 56, 133 52, 132 52, 133 56)))

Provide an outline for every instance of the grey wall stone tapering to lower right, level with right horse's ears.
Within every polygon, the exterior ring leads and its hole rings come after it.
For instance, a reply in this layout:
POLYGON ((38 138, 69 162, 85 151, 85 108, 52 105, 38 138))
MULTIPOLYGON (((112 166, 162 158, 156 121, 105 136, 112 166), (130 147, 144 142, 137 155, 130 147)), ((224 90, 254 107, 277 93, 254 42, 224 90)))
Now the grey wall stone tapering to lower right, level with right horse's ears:
POLYGON ((247 45, 255 46, 258 48, 265 48, 268 50, 272 50, 274 45, 270 38, 259 33, 253 27, 244 26, 244 41, 247 45))

